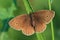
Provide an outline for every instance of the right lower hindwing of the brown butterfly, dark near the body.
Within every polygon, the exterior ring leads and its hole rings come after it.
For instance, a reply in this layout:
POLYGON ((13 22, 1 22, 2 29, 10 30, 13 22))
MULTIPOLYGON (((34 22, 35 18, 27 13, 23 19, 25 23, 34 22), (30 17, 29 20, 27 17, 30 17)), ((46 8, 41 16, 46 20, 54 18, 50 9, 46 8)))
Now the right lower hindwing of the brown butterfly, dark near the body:
POLYGON ((35 26, 34 30, 36 32, 40 32, 41 33, 41 32, 43 32, 46 29, 46 24, 43 23, 42 20, 39 20, 40 19, 39 17, 33 15, 32 19, 33 19, 32 23, 35 26))

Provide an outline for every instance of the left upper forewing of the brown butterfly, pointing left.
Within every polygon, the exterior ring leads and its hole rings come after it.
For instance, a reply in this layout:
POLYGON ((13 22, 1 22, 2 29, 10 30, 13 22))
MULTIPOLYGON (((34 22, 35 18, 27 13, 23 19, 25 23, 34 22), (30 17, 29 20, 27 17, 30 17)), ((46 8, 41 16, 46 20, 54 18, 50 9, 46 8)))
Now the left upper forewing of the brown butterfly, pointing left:
POLYGON ((25 20, 25 18, 27 17, 26 14, 23 14, 23 15, 19 15, 15 18, 13 18, 10 22, 9 22, 9 25, 16 29, 16 30, 21 30, 22 29, 22 25, 23 25, 23 22, 25 20))

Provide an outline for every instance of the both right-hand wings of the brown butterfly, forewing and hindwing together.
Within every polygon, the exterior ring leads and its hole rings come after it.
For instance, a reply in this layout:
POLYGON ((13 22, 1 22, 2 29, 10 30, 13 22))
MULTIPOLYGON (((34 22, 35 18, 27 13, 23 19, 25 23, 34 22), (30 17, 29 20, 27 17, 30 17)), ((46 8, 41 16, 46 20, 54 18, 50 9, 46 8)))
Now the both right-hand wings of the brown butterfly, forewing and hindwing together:
POLYGON ((54 17, 54 11, 41 10, 33 14, 35 21, 35 31, 43 32, 46 29, 46 24, 54 17))

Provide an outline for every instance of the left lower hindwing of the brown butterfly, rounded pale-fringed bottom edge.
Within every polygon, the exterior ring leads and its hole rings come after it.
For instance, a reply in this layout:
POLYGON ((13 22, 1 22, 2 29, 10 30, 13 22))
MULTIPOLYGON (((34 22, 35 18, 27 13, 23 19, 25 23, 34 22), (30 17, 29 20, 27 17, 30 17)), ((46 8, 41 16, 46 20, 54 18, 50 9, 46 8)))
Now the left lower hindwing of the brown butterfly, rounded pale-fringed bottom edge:
POLYGON ((27 36, 34 34, 34 28, 31 25, 31 19, 29 15, 24 21, 22 32, 27 36))

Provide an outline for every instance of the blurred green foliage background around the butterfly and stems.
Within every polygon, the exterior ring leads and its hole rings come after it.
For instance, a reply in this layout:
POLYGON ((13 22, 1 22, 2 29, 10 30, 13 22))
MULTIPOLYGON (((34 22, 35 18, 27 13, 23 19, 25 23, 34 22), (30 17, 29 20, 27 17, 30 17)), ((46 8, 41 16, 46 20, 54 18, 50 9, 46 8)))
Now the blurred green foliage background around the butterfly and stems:
MULTIPOLYGON (((48 10, 48 0, 29 0, 34 11, 48 10)), ((52 10, 55 11, 54 37, 60 40, 60 0, 51 0, 52 10)), ((38 40, 36 34, 25 36, 21 31, 12 29, 8 22, 15 16, 27 13, 23 0, 0 0, 0 40, 38 40)), ((40 34, 40 33, 39 33, 40 34)), ((51 26, 39 35, 41 40, 52 40, 51 26)))

